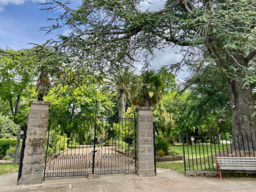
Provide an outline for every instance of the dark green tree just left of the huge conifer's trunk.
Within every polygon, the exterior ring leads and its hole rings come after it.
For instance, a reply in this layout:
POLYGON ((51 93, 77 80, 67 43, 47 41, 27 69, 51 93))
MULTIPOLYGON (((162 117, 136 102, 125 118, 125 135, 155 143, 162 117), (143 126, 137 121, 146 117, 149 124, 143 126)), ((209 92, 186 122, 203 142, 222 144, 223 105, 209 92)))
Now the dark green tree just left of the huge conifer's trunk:
POLYGON ((211 134, 231 133, 230 102, 223 74, 216 68, 206 66, 192 73, 185 85, 185 88, 190 88, 188 99, 193 101, 188 110, 196 120, 204 122, 201 124, 211 127, 205 126, 204 131, 208 130, 211 134), (216 127, 214 131, 213 127, 216 127))

